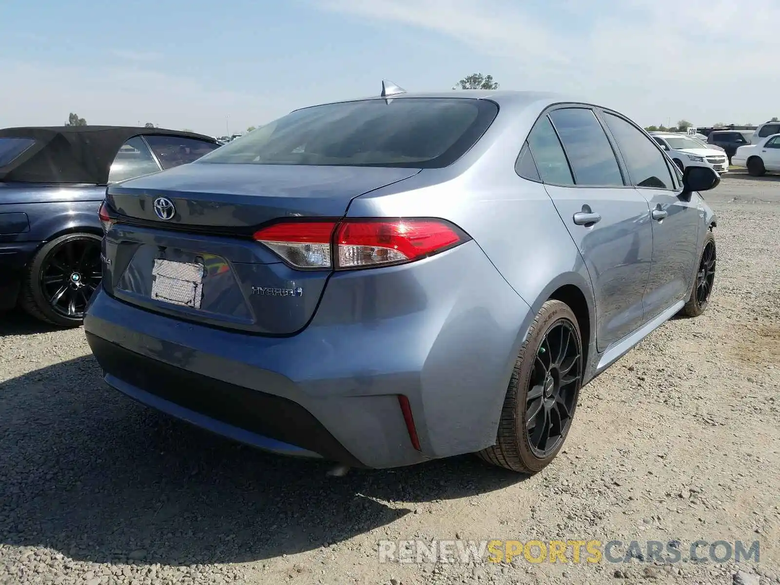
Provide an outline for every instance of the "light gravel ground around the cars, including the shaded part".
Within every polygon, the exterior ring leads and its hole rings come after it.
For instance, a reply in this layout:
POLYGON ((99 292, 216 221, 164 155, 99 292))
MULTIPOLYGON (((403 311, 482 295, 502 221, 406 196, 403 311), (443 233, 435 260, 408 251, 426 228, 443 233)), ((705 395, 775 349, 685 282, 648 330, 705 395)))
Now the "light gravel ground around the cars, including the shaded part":
POLYGON ((780 583, 780 177, 707 199, 711 307, 585 388, 566 450, 528 478, 470 456, 326 477, 125 399, 80 329, 6 315, 0 583, 780 583), (378 541, 417 537, 758 540, 761 557, 378 562, 378 541))

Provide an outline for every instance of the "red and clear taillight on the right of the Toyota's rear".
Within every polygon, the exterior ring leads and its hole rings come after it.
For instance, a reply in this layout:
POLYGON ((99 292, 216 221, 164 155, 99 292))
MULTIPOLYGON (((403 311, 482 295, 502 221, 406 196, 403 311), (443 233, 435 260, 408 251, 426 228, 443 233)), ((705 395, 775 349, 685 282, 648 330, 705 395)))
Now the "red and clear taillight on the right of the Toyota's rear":
POLYGON ((349 269, 419 260, 464 236, 438 219, 345 219, 282 222, 255 232, 254 239, 297 268, 349 269))

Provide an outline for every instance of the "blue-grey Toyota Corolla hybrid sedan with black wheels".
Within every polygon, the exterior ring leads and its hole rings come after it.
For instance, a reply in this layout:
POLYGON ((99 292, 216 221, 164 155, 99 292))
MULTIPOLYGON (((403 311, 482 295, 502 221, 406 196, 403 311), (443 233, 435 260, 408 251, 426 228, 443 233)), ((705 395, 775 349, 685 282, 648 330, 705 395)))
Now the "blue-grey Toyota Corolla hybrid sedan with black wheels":
POLYGON ((718 181, 608 108, 386 85, 108 186, 84 328, 109 385, 262 449, 533 473, 707 307, 718 181))

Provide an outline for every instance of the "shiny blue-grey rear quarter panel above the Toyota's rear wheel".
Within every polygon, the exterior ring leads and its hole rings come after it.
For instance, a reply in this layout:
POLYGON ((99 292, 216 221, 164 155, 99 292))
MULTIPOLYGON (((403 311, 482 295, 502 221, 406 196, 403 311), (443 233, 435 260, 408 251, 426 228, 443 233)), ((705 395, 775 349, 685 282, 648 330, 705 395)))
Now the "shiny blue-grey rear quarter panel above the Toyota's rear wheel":
MULTIPOLYGON (((357 197, 347 216, 445 218, 476 241, 534 313, 556 289, 576 285, 586 297, 594 323, 590 276, 579 250, 544 186, 515 172, 527 134, 547 105, 540 102, 516 112, 502 106, 482 140, 455 164, 424 170, 357 197)), ((452 278, 470 278, 469 267, 452 278)), ((484 303, 494 302, 486 289, 484 303)), ((516 349, 525 339, 527 325, 516 323, 516 349)), ((507 365, 508 379, 512 363, 507 365)))

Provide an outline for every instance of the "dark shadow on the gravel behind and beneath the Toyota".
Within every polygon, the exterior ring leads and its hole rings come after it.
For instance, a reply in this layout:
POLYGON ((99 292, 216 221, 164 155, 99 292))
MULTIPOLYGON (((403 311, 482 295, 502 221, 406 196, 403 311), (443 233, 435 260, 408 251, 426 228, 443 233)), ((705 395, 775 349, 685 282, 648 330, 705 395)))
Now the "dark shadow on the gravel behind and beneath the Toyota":
POLYGON ((0 543, 76 560, 247 562, 345 541, 523 476, 472 456, 326 477, 144 408, 92 356, 0 385, 0 543))

